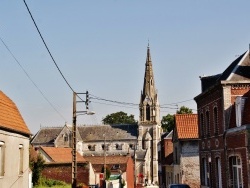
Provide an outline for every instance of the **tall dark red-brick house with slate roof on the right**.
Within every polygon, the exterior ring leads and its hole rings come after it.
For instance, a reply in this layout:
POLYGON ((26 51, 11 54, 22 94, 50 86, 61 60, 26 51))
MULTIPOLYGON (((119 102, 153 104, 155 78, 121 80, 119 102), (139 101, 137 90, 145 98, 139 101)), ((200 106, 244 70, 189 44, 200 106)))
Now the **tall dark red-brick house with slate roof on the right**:
POLYGON ((250 187, 250 54, 203 76, 198 108, 202 187, 250 187))

